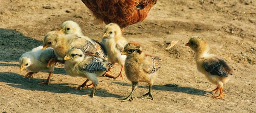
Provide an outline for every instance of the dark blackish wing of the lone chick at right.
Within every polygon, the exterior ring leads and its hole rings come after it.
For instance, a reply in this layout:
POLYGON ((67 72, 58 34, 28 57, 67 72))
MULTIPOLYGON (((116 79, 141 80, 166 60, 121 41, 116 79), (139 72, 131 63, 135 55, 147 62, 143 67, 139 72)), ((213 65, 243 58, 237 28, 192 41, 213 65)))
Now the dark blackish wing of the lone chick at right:
POLYGON ((210 58, 204 60, 203 67, 212 75, 219 75, 221 77, 227 77, 227 74, 232 75, 232 69, 224 60, 220 58, 210 58))

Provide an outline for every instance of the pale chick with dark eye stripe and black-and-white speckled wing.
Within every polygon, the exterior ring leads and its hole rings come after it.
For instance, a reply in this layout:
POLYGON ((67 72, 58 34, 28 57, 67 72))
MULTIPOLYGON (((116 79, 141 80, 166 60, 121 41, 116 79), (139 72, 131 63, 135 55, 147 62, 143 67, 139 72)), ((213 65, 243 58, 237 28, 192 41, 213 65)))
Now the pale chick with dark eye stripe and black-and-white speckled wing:
POLYGON ((65 70, 68 75, 86 77, 93 81, 94 87, 90 94, 83 96, 94 97, 98 84, 98 77, 108 71, 113 65, 105 59, 84 55, 80 48, 72 47, 64 57, 65 70))

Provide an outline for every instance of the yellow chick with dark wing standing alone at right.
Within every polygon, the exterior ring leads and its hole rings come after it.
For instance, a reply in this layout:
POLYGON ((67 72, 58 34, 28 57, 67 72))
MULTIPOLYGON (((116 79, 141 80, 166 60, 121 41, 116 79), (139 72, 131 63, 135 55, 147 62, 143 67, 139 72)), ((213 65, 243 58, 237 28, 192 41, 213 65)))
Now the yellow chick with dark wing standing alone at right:
POLYGON ((198 71, 203 73, 212 84, 217 85, 212 92, 220 91, 220 93, 213 98, 222 99, 225 96, 222 92, 223 86, 229 81, 233 70, 221 57, 209 53, 209 44, 204 38, 192 36, 185 45, 195 52, 198 71))

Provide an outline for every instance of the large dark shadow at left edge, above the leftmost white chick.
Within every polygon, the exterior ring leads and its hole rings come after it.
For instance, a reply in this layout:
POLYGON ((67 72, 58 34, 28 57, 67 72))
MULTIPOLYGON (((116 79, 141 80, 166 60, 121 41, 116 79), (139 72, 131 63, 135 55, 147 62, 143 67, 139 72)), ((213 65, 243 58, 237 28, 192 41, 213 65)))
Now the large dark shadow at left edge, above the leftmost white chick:
POLYGON ((21 32, 0 28, 1 61, 18 61, 24 52, 40 45, 42 41, 24 36, 21 32))

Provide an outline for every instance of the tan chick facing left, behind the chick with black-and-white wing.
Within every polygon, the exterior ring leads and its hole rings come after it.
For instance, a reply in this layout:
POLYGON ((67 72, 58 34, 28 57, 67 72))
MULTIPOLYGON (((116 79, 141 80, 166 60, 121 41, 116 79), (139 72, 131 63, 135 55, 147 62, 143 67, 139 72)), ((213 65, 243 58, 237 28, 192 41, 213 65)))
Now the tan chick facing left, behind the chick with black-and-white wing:
MULTIPOLYGON (((49 61, 48 66, 52 66, 53 64, 56 64, 56 62, 61 62, 62 64, 64 64, 65 61, 63 60, 63 58, 65 57, 65 55, 67 54, 67 51, 71 47, 81 48, 84 54, 86 55, 90 55, 90 56, 94 56, 102 59, 106 58, 105 54, 102 54, 104 53, 102 52, 103 50, 100 52, 97 51, 93 43, 86 40, 85 38, 81 38, 73 34, 66 35, 60 31, 48 32, 44 36, 43 45, 44 45, 43 49, 47 47, 52 47, 55 51, 55 55, 57 56, 56 58, 53 58, 49 61)), ((113 75, 106 75, 106 76, 114 78, 113 75)), ((84 85, 85 84, 82 84, 81 86, 77 87, 77 89, 79 89, 80 87, 84 87, 84 85)))

